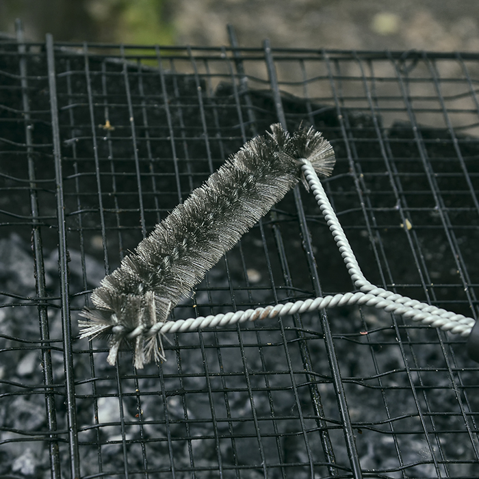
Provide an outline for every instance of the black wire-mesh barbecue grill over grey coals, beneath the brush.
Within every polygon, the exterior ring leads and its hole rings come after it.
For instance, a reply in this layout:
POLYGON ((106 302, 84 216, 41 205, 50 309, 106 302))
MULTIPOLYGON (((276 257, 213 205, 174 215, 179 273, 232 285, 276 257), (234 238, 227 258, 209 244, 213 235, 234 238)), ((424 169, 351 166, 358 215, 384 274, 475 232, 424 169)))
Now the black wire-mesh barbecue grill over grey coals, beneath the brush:
MULTIPOLYGON (((0 477, 478 477, 467 338, 356 305, 167 335, 143 370, 79 339, 103 276, 274 122, 335 148, 323 185, 367 279, 476 319, 479 55, 229 37, 1 37, 0 477)), ((171 315, 354 290, 296 187, 171 315)))

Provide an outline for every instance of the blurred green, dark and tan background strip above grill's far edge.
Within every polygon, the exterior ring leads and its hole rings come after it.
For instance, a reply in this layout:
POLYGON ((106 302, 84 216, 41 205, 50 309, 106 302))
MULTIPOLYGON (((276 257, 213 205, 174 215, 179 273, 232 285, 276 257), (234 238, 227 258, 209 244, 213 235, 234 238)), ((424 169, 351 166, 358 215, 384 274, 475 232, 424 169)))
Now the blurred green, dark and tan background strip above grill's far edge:
POLYGON ((477 0, 0 0, 0 30, 29 40, 479 51, 477 0))

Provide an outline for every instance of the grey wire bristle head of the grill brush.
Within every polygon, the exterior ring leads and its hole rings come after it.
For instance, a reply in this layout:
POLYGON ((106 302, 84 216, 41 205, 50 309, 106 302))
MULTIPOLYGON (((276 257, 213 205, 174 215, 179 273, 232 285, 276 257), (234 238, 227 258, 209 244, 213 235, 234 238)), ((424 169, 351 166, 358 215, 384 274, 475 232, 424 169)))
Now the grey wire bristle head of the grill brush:
POLYGON ((164 359, 158 331, 170 309, 302 179, 302 161, 331 174, 333 148, 321 133, 311 127, 289 135, 279 124, 270 129, 211 174, 94 290, 96 309, 82 311, 87 321, 79 321, 80 337, 109 336, 108 363, 124 342, 133 344, 137 368, 164 359))

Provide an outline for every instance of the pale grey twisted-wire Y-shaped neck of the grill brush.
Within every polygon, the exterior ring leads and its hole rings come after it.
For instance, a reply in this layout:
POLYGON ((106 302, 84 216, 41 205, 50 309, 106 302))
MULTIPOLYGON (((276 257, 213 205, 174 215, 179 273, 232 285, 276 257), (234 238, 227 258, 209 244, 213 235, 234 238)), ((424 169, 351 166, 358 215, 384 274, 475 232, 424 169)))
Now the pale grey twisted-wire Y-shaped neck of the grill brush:
POLYGON ((359 263, 357 262, 352 248, 344 234, 344 231, 337 219, 333 207, 324 192, 324 188, 316 174, 311 162, 308 159, 302 159, 302 172, 311 187, 316 201, 323 213, 323 216, 333 233, 335 242, 341 253, 341 257, 346 263, 346 268, 354 281, 354 285, 361 289, 360 292, 335 294, 334 296, 324 296, 299 300, 296 302, 287 302, 276 306, 259 307, 256 309, 246 309, 246 311, 236 311, 235 313, 220 313, 217 315, 199 316, 198 318, 188 318, 187 320, 167 321, 157 323, 150 328, 148 332, 134 331, 129 333, 128 337, 133 339, 140 334, 147 336, 157 333, 179 333, 185 331, 195 331, 204 328, 213 328, 216 326, 226 326, 229 324, 242 323, 246 321, 263 320, 267 318, 276 318, 276 316, 292 315, 295 313, 306 313, 307 311, 318 311, 328 307, 343 305, 367 305, 378 309, 384 309, 387 312, 400 314, 404 318, 416 322, 422 322, 443 331, 450 331, 463 337, 469 336, 472 326, 476 323, 473 318, 467 318, 461 314, 455 314, 445 309, 428 305, 418 300, 413 300, 407 296, 401 296, 386 289, 377 287, 367 281, 359 263))

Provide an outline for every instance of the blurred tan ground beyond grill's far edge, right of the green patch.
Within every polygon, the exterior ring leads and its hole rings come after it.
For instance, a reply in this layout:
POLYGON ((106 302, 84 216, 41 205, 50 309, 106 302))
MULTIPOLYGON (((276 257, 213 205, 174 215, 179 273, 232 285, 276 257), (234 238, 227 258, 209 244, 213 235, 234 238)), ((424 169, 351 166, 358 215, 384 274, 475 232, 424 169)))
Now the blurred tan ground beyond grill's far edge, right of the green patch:
POLYGON ((479 50, 479 2, 463 0, 180 0, 180 43, 223 44, 232 23, 244 47, 479 50))

